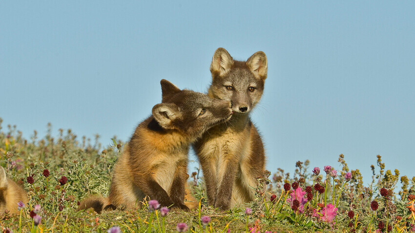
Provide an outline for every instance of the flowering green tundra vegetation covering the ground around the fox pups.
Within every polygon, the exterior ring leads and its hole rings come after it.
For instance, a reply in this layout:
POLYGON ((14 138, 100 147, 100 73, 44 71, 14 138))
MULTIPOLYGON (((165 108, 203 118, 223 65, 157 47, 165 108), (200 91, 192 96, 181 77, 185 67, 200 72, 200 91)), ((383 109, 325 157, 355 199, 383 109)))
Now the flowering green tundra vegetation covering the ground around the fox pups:
POLYGON ((114 137, 103 146, 98 135, 78 138, 70 129, 53 137, 50 124, 44 138, 36 131, 24 138, 16 126, 2 128, 1 121, 0 165, 29 199, 16 203, 20 214, 0 213, 3 232, 415 232, 415 177, 385 170, 380 155, 368 165, 369 186, 339 155, 337 166, 318 161, 321 166, 311 169, 306 160, 296 162, 294 174, 265 171, 252 187, 256 198, 249 207, 224 212, 207 206, 203 177, 194 168, 189 187, 200 201, 191 212, 157 200, 139 210, 78 212, 86 196, 108 195, 123 142, 114 137))

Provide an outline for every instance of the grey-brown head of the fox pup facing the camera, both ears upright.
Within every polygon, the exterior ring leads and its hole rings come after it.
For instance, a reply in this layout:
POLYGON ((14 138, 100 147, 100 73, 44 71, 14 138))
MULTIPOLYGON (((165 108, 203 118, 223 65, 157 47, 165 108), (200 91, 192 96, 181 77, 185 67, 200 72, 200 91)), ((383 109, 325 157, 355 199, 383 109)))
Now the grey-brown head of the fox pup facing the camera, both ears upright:
POLYGON ((237 61, 224 48, 218 48, 210 65, 209 96, 231 101, 235 113, 249 113, 262 96, 267 70, 267 56, 262 51, 247 61, 237 61))

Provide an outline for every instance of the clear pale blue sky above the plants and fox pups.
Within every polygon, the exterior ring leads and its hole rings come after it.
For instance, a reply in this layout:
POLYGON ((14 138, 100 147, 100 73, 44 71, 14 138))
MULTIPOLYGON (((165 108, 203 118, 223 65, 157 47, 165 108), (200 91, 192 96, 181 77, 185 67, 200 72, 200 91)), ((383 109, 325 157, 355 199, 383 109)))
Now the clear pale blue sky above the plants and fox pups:
MULTIPOLYGON (((25 137, 51 122, 127 140, 161 101, 160 79, 205 92, 214 51, 268 57, 251 117, 267 168, 332 165, 414 176, 413 1, 5 1, 0 117, 25 137)), ((194 155, 190 155, 194 159, 194 155)), ((191 171, 190 171, 191 172, 191 171)))

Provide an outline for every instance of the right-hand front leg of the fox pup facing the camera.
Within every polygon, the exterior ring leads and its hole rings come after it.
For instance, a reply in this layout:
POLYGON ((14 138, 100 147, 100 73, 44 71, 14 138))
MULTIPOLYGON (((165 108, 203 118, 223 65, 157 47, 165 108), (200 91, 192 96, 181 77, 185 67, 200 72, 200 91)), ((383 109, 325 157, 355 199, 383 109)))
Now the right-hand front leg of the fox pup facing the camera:
POLYGON ((222 210, 228 210, 230 207, 233 184, 238 168, 238 159, 236 155, 225 154, 225 164, 219 168, 219 188, 216 193, 215 207, 222 210))

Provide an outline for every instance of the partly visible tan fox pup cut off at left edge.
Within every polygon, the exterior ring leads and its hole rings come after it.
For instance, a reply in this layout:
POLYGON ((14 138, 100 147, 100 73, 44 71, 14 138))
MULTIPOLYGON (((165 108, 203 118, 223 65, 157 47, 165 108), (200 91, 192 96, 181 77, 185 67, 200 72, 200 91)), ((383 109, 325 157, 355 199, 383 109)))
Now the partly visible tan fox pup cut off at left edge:
POLYGON ((3 167, 0 167, 0 213, 4 210, 10 211, 10 214, 19 214, 17 209, 19 202, 27 203, 26 192, 13 180, 6 177, 3 167))

